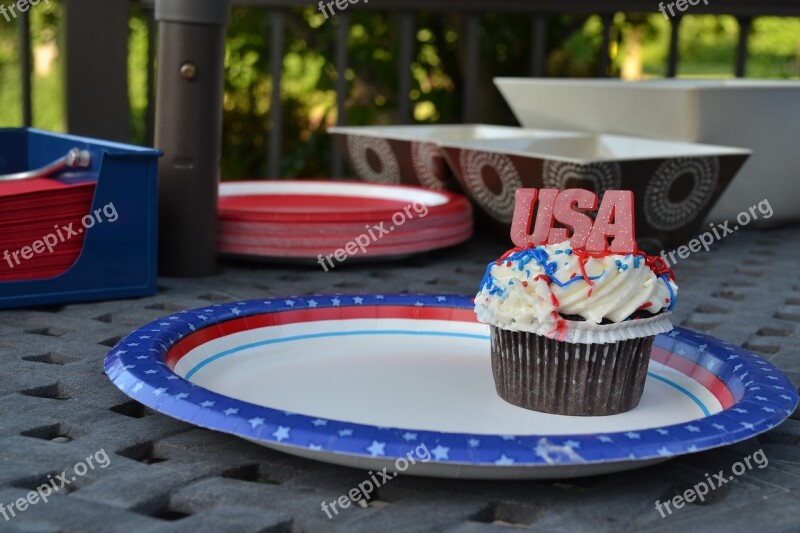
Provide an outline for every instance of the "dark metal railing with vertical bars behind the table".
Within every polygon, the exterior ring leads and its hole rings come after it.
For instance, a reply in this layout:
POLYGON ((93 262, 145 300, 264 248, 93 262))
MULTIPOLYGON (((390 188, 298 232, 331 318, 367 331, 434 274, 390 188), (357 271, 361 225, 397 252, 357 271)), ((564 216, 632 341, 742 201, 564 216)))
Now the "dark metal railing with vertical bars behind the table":
MULTIPOLYGON (((92 32, 86 32, 85 27, 80 28, 80 20, 103 20, 106 32, 109 31, 108 25, 119 24, 120 20, 125 20, 120 13, 127 14, 129 5, 124 0, 109 2, 108 0, 64 0, 67 10, 67 65, 66 72, 68 77, 75 77, 86 72, 87 65, 92 69, 112 68, 116 63, 124 63, 119 58, 126 57, 124 54, 124 43, 116 40, 114 43, 98 42, 92 32), (114 16, 116 15, 116 16, 114 16), (102 18, 101 18, 102 17, 102 18), (116 21, 116 22, 115 22, 116 21), (78 27, 75 27, 78 25, 78 27), (72 26, 72 27, 71 27, 72 26), (87 34, 88 33, 88 34, 87 34)), ((135 2, 145 8, 152 7, 153 0, 140 0, 135 2)), ((270 39, 270 69, 273 79, 272 96, 270 102, 270 122, 272 127, 268 132, 268 176, 279 177, 280 159, 282 153, 282 129, 283 113, 281 106, 281 77, 283 58, 285 54, 284 34, 287 26, 287 19, 293 11, 309 6, 316 6, 311 0, 233 0, 236 6, 250 6, 269 10, 271 13, 272 27, 270 39)), ((670 2, 665 2, 670 4, 670 2)), ((480 52, 479 29, 481 17, 486 13, 519 13, 530 18, 531 41, 530 55, 531 61, 528 72, 520 72, 519 75, 529 75, 541 77, 545 75, 545 59, 547 56, 546 30, 551 17, 557 14, 597 14, 603 23, 603 38, 600 47, 598 60, 597 76, 608 75, 611 64, 609 48, 612 39, 613 17, 615 13, 657 13, 659 2, 655 0, 606 0, 597 2, 596 0, 375 0, 369 3, 360 2, 352 5, 348 10, 339 12, 336 17, 332 17, 331 23, 336 25, 336 41, 333 52, 333 61, 337 73, 345 72, 348 67, 347 38, 350 28, 350 13, 354 10, 371 10, 391 12, 399 16, 399 61, 397 62, 398 86, 396 91, 400 95, 408 95, 412 85, 411 63, 414 57, 415 36, 416 36, 416 16, 420 11, 425 12, 449 12, 457 11, 465 17, 464 30, 464 51, 465 63, 476 68, 466 69, 462 80, 461 94, 461 120, 471 122, 474 119, 475 102, 481 73, 478 56, 480 52)), ((752 21, 758 16, 800 16, 800 2, 795 0, 763 0, 754 2, 753 0, 724 0, 705 2, 699 1, 697 5, 691 6, 692 15, 716 14, 733 15, 737 18, 740 25, 740 35, 736 51, 735 75, 743 77, 746 72, 748 57, 748 36, 752 26, 752 21)), ((677 73, 679 52, 678 40, 680 37, 681 17, 676 16, 670 19, 671 39, 667 63, 664 74, 667 77, 674 77, 677 73)), ((20 40, 21 40, 21 68, 23 70, 23 118, 26 125, 31 123, 31 47, 30 29, 28 13, 21 13, 20 40)), ((85 25, 84 25, 85 26, 85 25)), ((110 31, 123 32, 127 34, 127 26, 114 27, 110 31)), ((148 93, 150 98, 150 111, 147 115, 148 131, 152 131, 153 124, 153 101, 155 91, 154 86, 154 38, 155 24, 150 24, 150 52, 149 52, 149 78, 148 93)), ((116 72, 119 77, 119 72, 116 72)), ((98 77, 93 80, 98 83, 98 77)), ((127 78, 123 76, 125 83, 116 80, 102 82, 107 87, 101 87, 100 91, 113 91, 119 93, 121 87, 126 88, 127 78)), ((70 84, 67 87, 75 87, 70 84)), ((344 109, 348 85, 344 75, 337 75, 335 81, 337 94, 337 106, 344 109)), ((73 91, 74 93, 74 91, 73 91)), ((97 94, 83 95, 82 98, 75 98, 75 94, 68 92, 67 98, 67 121, 70 131, 77 133, 88 133, 99 135, 106 138, 118 138, 120 132, 129 130, 129 109, 125 105, 127 93, 124 98, 119 94, 97 94), (87 98, 94 98, 94 105, 87 106, 87 98)), ((401 98, 398 100, 397 117, 398 123, 407 123, 411 120, 411 100, 401 98)), ((341 123, 344 113, 338 113, 338 120, 341 123)), ((267 126, 265 125, 265 130, 267 126)), ((152 137, 150 137, 152 138, 152 137)), ((343 163, 338 155, 333 157, 333 175, 342 175, 343 163)))

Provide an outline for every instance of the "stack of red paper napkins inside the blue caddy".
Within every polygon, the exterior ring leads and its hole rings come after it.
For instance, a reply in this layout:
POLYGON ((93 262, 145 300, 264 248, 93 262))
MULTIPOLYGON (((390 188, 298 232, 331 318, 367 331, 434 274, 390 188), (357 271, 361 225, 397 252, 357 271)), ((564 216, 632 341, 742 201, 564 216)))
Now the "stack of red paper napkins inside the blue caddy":
POLYGON ((85 237, 95 184, 49 178, 0 183, 0 281, 42 279, 69 269, 85 237))

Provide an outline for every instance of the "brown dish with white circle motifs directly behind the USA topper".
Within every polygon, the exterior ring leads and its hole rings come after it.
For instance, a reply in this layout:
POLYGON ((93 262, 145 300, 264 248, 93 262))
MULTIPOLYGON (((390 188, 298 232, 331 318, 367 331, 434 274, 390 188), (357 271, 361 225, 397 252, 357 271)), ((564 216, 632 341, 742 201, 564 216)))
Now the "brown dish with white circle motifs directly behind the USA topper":
POLYGON ((506 237, 520 187, 634 191, 639 246, 691 239, 750 151, 619 135, 440 143, 467 195, 506 237))

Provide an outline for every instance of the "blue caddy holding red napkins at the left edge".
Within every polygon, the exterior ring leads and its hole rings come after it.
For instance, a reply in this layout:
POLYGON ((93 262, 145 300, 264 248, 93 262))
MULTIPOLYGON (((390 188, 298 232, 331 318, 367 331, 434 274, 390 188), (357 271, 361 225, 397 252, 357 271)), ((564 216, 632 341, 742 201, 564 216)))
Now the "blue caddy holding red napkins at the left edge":
POLYGON ((113 203, 118 219, 87 231, 80 255, 64 273, 0 282, 0 309, 156 292, 161 152, 30 128, 0 129, 0 174, 43 167, 72 148, 88 150, 92 156, 88 172, 97 178, 92 211, 113 203))

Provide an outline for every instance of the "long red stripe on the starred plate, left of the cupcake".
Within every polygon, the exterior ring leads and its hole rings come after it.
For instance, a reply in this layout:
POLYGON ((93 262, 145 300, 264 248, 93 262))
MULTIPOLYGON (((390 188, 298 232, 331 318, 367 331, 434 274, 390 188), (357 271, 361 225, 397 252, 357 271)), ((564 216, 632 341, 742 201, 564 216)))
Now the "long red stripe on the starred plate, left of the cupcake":
POLYGON ((407 318, 414 320, 448 320, 454 322, 476 323, 475 312, 472 309, 457 309, 453 307, 417 307, 408 305, 365 305, 347 307, 324 307, 317 309, 297 309, 292 311, 278 311, 265 313, 245 318, 236 318, 216 324, 181 339, 167 353, 166 364, 174 369, 187 353, 201 344, 214 339, 240 333, 242 331, 279 326, 282 324, 297 324, 300 322, 318 322, 323 320, 348 320, 358 318, 407 318))

